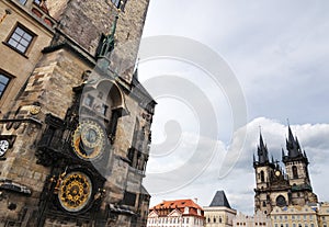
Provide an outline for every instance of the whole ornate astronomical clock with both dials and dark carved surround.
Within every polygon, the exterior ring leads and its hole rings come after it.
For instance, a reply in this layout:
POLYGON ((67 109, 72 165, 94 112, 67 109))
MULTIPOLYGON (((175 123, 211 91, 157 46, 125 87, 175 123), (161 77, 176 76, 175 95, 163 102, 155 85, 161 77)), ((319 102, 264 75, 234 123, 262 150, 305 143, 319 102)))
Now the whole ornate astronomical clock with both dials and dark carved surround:
POLYGON ((75 101, 64 121, 46 116, 47 128, 36 154, 41 164, 53 167, 43 191, 46 216, 99 215, 106 194, 102 173, 111 162, 111 143, 104 117, 83 107, 83 87, 73 89, 75 101))

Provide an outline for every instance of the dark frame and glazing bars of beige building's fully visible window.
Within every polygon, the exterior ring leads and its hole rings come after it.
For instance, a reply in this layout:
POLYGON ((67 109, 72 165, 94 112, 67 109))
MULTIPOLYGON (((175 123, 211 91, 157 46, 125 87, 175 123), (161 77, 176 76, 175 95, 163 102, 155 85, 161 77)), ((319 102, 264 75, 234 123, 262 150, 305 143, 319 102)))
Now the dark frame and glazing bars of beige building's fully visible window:
MULTIPOLYGON (((18 34, 18 35, 19 35, 19 34, 18 34)), ((9 46, 10 48, 12 48, 13 50, 18 52, 19 54, 25 56, 25 55, 27 54, 27 52, 30 50, 30 48, 31 48, 31 46, 32 46, 32 43, 34 42, 35 37, 36 37, 36 34, 35 34, 34 32, 32 32, 32 31, 29 30, 26 26, 24 26, 23 24, 21 24, 20 22, 18 22, 18 23, 14 25, 14 27, 12 29, 11 33, 9 34, 9 36, 7 37, 7 39, 5 39, 5 45, 9 46), (18 29, 20 29, 20 30, 22 30, 22 31, 24 32, 23 35, 20 35, 20 42, 15 41, 15 39, 13 38, 14 34, 18 34, 18 33, 15 33, 18 29), (22 43, 21 43, 21 39, 22 39, 22 37, 23 37, 25 34, 29 34, 29 35, 31 36, 31 39, 30 39, 30 41, 26 41, 26 39, 24 38, 26 42, 29 42, 27 45, 24 46, 24 47, 25 47, 24 52, 20 50, 20 49, 18 48, 18 46, 14 46, 14 45, 10 44, 10 41, 13 39, 14 42, 18 43, 18 45, 23 46, 22 43)))

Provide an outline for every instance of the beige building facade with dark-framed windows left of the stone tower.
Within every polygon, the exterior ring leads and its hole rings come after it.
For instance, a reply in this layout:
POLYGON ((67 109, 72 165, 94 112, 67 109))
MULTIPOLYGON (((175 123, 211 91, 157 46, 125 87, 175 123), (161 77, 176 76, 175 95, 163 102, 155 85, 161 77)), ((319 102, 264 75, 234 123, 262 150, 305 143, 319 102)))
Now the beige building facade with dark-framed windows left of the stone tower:
POLYGON ((50 44, 56 22, 38 1, 0 2, 0 117, 50 44))

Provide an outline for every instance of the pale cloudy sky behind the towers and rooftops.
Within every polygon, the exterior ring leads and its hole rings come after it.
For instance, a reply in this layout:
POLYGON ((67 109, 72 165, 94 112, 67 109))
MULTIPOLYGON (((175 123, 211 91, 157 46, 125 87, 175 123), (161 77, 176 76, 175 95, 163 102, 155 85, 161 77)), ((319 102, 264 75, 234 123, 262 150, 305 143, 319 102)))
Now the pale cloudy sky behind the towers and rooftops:
POLYGON ((281 160, 288 123, 314 192, 329 201, 328 11, 325 0, 150 1, 139 54, 139 80, 158 102, 144 180, 150 206, 207 206, 224 190, 231 207, 252 214, 260 130, 281 160))

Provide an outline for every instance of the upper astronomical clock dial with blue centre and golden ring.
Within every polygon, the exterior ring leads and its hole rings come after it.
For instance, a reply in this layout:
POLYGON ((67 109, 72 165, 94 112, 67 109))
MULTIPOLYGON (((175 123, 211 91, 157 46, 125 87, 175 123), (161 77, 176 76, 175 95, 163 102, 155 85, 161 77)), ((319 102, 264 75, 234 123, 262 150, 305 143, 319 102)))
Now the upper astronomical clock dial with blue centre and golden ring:
POLYGON ((79 158, 84 160, 98 158, 105 147, 105 133, 93 121, 79 124, 72 136, 72 147, 79 158))

